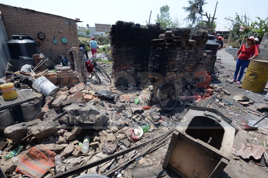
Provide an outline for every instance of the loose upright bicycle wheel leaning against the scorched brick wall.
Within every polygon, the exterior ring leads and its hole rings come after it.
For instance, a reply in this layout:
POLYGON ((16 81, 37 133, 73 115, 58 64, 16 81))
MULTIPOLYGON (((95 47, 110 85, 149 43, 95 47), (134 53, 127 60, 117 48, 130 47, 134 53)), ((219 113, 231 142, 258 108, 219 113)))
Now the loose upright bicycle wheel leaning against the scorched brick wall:
POLYGON ((157 101, 161 108, 173 110, 178 102, 175 86, 171 82, 163 82, 157 90, 157 101))

